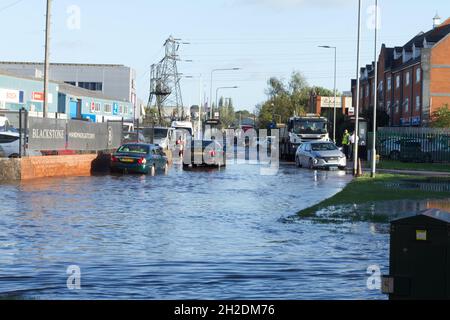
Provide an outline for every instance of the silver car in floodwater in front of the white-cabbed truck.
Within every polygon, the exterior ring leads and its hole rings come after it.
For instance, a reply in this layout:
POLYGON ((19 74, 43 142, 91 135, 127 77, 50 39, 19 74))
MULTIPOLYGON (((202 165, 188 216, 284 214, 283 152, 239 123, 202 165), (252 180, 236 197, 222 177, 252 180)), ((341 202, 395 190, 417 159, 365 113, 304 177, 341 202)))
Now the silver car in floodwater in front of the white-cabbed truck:
POLYGON ((345 170, 345 154, 333 142, 306 142, 300 145, 295 155, 298 167, 309 169, 339 168, 345 170))

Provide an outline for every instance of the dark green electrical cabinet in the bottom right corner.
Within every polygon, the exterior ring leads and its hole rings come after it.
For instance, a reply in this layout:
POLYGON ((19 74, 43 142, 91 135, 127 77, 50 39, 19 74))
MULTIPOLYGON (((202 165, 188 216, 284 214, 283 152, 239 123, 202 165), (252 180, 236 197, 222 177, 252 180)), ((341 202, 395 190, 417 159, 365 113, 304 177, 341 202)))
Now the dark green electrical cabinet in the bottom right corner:
POLYGON ((427 210, 391 222, 390 275, 383 293, 391 300, 450 299, 450 213, 427 210))

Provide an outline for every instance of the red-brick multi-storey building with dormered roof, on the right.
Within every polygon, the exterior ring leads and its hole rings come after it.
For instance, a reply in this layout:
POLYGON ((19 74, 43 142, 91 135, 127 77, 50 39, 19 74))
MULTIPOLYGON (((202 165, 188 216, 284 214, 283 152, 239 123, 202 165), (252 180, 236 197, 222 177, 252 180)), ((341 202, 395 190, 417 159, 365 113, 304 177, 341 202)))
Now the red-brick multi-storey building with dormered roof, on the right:
MULTIPOLYGON (((360 112, 373 108, 375 63, 361 68, 360 112)), ((450 18, 401 47, 382 45, 378 60, 378 106, 391 126, 427 126, 431 114, 450 105, 450 18)), ((356 107, 356 80, 352 80, 356 107)))

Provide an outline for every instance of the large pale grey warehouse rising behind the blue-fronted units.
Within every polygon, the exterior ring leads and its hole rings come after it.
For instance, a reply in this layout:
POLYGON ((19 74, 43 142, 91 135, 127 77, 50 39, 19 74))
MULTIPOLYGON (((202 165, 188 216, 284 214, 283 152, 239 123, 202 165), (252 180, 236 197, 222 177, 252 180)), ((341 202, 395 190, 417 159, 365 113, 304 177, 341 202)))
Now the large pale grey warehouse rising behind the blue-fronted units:
MULTIPOLYGON (((36 62, 0 62, 0 70, 17 76, 42 79, 44 64, 36 62)), ((115 100, 137 106, 136 72, 116 64, 50 64, 50 80, 94 91, 115 100)))

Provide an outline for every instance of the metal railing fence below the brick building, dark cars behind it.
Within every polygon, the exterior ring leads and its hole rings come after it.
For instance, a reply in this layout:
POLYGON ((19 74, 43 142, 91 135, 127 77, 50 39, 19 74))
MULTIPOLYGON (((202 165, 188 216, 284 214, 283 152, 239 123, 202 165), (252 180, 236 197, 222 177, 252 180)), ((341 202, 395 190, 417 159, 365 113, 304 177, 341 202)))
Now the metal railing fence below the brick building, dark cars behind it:
POLYGON ((379 128, 377 152, 383 159, 450 162, 450 128, 379 128))

